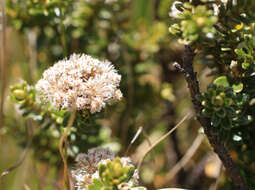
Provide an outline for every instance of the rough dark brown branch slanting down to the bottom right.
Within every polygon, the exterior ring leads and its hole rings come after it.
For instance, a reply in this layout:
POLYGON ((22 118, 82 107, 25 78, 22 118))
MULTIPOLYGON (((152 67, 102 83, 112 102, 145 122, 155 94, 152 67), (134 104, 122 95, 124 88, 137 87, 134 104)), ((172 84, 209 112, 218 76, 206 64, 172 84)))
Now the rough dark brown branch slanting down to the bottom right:
POLYGON ((211 121, 209 118, 201 117, 199 113, 202 111, 203 106, 201 103, 195 98, 197 94, 200 94, 199 83, 197 80, 196 73, 193 70, 193 60, 195 57, 195 53, 190 46, 185 46, 185 54, 183 57, 183 68, 180 65, 175 65, 177 69, 181 70, 184 73, 186 82, 188 84, 191 100, 195 111, 197 113, 197 119, 202 125, 204 132, 214 149, 214 152, 219 156, 223 165, 226 168, 226 171, 233 183, 240 190, 247 190, 247 186, 241 178, 238 167, 235 165, 233 160, 231 159, 227 149, 224 144, 220 141, 219 137, 212 134, 211 132, 211 121))

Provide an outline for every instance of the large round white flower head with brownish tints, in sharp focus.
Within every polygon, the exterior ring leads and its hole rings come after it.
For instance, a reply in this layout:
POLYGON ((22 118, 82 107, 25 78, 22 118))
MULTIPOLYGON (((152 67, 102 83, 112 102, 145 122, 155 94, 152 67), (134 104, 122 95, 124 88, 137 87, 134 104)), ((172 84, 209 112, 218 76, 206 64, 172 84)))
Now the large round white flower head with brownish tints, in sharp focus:
POLYGON ((106 103, 120 100, 121 76, 108 61, 73 54, 44 71, 36 90, 60 109, 100 112, 106 103))

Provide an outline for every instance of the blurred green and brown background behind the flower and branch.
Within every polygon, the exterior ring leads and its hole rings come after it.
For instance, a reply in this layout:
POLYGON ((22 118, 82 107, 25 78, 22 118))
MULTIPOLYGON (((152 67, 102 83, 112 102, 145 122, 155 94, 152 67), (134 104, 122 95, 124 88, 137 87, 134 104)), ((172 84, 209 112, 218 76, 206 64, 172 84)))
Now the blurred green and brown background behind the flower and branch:
MULTIPOLYGON (((184 49, 168 32, 172 0, 5 0, 5 5, 6 27, 0 25, 0 35, 6 32, 6 46, 0 46, 5 56, 0 172, 27 153, 19 167, 2 177, 1 188, 60 189, 60 135, 52 126, 41 129, 34 118, 25 118, 10 100, 9 86, 21 80, 34 85, 46 68, 72 53, 111 61, 122 76, 124 98, 96 120, 96 136, 79 140, 69 166, 77 153, 96 146, 110 147, 137 163, 151 143, 193 112, 183 75, 173 67, 182 62, 184 49), (32 126, 33 140, 25 148, 31 140, 27 125, 32 126), (142 133, 126 152, 140 127, 142 133)), ((195 67, 203 90, 211 80, 209 71, 198 61, 195 67)), ((221 186, 226 180, 221 162, 201 133, 192 117, 156 146, 142 165, 142 185, 149 190, 221 186)))

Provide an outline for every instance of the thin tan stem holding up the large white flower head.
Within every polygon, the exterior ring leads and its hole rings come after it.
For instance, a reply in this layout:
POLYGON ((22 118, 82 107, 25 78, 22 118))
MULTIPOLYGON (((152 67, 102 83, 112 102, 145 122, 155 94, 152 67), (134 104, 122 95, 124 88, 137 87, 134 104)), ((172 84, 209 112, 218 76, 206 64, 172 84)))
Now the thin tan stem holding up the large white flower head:
POLYGON ((65 158, 65 154, 64 154, 64 151, 63 151, 63 143, 65 142, 65 149, 66 149, 66 147, 67 147, 67 136, 68 136, 69 131, 70 131, 72 125, 73 125, 75 116, 76 116, 76 107, 73 106, 73 111, 72 111, 71 117, 68 120, 66 130, 64 131, 63 135, 61 136, 61 138, 59 140, 59 144, 58 144, 60 156, 61 156, 61 158, 63 160, 63 163, 64 163, 64 179, 65 179, 66 186, 67 186, 68 190, 70 190, 70 181, 69 181, 67 160, 65 158))

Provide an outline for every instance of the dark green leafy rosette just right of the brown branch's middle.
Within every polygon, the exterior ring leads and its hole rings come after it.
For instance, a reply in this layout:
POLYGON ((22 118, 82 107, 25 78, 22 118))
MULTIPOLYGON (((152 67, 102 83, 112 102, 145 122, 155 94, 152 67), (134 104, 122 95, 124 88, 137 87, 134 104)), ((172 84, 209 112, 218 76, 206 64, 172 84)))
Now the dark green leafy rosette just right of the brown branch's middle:
POLYGON ((218 127, 218 131, 226 133, 253 120, 251 115, 245 114, 248 96, 235 93, 233 88, 210 85, 207 92, 198 98, 204 106, 202 116, 211 118, 212 126, 218 127))

